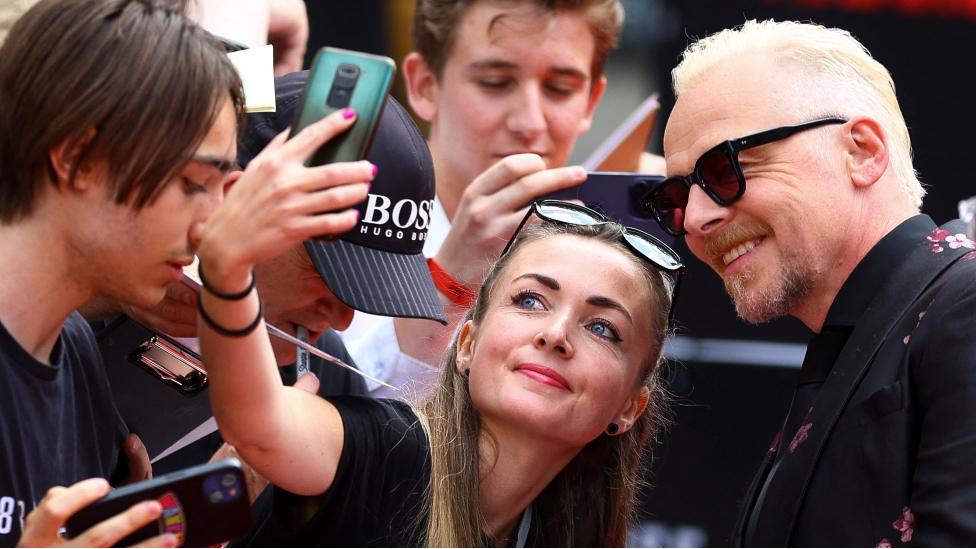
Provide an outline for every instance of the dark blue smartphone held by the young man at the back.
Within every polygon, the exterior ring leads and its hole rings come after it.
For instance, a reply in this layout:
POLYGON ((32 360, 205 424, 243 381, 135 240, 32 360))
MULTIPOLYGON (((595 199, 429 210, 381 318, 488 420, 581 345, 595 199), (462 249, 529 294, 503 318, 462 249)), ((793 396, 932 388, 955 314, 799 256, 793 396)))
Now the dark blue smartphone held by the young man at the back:
POLYGON ((662 242, 671 243, 674 237, 664 232, 657 220, 640 207, 641 197, 662 181, 662 175, 589 172, 586 179, 576 187, 555 191, 536 200, 579 200, 614 221, 650 233, 662 242))

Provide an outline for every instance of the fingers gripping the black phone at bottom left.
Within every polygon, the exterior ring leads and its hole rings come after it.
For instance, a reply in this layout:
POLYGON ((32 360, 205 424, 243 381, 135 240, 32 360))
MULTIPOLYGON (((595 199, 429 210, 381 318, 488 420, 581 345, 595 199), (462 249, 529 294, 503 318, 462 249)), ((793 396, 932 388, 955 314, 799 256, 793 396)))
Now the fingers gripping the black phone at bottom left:
MULTIPOLYGON (((19 547, 112 547, 125 536, 159 518, 163 511, 158 501, 137 503, 114 517, 102 521, 73 539, 61 537, 68 517, 108 494, 105 479, 91 478, 65 488, 55 486, 24 521, 19 547)), ((176 547, 176 536, 163 534, 137 547, 176 547)))

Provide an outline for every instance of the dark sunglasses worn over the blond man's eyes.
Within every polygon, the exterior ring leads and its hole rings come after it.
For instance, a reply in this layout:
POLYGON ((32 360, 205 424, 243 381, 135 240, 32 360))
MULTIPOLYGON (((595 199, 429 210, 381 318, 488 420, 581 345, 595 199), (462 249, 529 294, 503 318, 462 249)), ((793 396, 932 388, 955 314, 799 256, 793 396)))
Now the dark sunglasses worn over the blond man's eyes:
POLYGON ((640 206, 650 212, 668 234, 685 234, 685 207, 692 185, 698 185, 716 204, 728 206, 746 192, 746 178, 739 166, 739 151, 780 141, 791 135, 827 124, 843 124, 846 118, 829 116, 795 126, 780 126, 712 147, 695 162, 687 176, 665 179, 641 198, 640 206))

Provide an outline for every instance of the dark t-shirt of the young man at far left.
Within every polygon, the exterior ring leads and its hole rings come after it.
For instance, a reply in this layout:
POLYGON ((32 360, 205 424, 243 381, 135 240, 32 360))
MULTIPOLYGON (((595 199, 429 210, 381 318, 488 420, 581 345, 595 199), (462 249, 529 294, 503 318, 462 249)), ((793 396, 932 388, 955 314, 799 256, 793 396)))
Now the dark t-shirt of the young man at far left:
POLYGON ((0 546, 52 486, 108 478, 127 436, 95 337, 78 313, 64 323, 51 365, 0 324, 0 546))

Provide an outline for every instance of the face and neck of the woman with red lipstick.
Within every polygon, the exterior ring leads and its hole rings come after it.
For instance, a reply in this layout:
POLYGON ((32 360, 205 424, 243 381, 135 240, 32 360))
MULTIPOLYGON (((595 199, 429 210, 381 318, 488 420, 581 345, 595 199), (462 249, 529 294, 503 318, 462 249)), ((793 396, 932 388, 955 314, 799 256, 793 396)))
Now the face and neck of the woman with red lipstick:
POLYGON ((462 328, 458 368, 470 369, 483 428, 481 507, 503 540, 610 422, 623 433, 643 412, 651 325, 641 312, 653 303, 632 258, 561 235, 523 247, 489 307, 480 326, 462 328))

